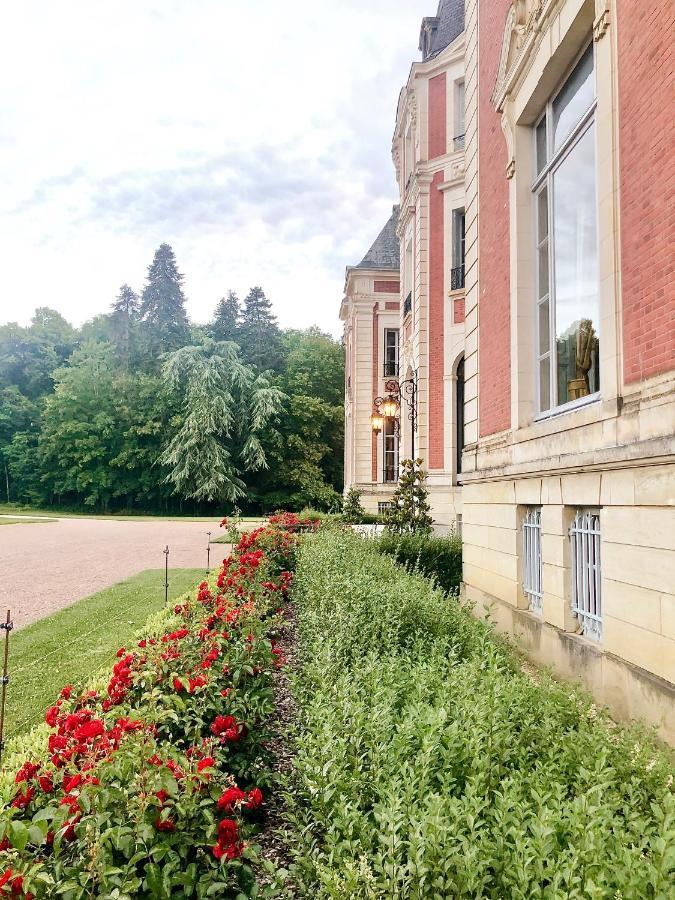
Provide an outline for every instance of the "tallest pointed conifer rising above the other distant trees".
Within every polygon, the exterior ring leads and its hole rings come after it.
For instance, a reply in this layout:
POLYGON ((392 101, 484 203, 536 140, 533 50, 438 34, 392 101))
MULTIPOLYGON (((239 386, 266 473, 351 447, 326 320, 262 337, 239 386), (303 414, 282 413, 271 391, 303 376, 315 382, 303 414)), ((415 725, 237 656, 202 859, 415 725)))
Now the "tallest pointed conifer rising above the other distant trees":
POLYGON ((183 276, 169 244, 160 244, 148 268, 140 315, 154 357, 177 350, 190 342, 185 312, 183 276))

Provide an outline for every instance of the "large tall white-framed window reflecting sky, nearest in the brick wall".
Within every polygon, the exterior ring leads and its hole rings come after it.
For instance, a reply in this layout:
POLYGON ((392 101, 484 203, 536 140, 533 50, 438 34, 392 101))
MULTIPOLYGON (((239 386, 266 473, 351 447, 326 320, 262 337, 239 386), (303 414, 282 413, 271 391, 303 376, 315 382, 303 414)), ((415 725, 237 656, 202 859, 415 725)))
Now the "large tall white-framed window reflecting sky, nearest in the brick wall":
POLYGON ((593 44, 534 129, 539 411, 600 390, 593 44))

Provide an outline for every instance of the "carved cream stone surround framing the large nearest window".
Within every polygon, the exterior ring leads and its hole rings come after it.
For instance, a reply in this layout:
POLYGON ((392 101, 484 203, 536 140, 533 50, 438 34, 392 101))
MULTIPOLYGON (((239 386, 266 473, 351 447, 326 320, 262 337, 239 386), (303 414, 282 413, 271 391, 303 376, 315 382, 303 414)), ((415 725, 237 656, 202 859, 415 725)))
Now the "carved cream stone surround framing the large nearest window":
MULTIPOLYGON (((523 4, 516 3, 516 6, 523 4)), ((531 193, 534 172, 532 127, 548 99, 563 83, 566 74, 591 35, 596 41, 596 161, 599 235, 600 289, 600 383, 604 414, 615 408, 621 395, 621 334, 618 245, 618 171, 615 52, 612 39, 601 40, 607 32, 610 5, 605 0, 548 0, 524 4, 529 17, 523 24, 513 16, 507 21, 504 56, 493 97, 502 114, 510 179, 511 245, 511 426, 533 427, 539 422, 547 430, 551 414, 536 410, 535 366, 535 257, 534 215, 531 193), (602 18, 604 30, 597 27, 602 18), (595 26, 595 28, 594 28, 595 26), (601 32, 601 33, 600 33, 601 32), (515 60, 507 62, 513 35, 520 41, 515 60)), ((521 15, 522 15, 521 9, 521 15)), ((514 15, 517 13, 514 12, 514 15)), ((569 413, 572 417, 576 411, 569 413)), ((603 412, 598 408, 597 415, 603 412)), ((595 416, 594 416, 595 417, 595 416)), ((574 423, 576 424, 576 423, 574 423)), ((570 421, 570 427, 574 427, 570 421)))

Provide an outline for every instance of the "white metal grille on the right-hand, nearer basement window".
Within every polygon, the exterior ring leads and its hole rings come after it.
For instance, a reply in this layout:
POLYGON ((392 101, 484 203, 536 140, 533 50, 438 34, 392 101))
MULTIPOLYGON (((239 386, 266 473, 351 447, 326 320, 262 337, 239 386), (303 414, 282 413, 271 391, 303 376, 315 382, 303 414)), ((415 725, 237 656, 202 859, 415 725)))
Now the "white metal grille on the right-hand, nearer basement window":
POLYGON ((585 637, 602 638, 600 593, 600 514, 580 509, 570 528, 572 549, 572 612, 585 637))

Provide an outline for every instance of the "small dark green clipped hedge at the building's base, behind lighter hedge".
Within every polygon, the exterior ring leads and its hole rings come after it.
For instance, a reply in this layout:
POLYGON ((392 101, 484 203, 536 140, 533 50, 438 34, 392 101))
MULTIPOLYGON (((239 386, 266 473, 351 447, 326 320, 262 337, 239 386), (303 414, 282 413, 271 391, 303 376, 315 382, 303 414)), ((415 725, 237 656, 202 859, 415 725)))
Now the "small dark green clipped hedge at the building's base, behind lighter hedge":
POLYGON ((424 575, 432 575, 445 591, 457 591, 462 582, 462 541, 456 535, 431 537, 385 532, 376 541, 380 553, 424 575))

